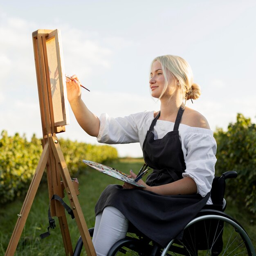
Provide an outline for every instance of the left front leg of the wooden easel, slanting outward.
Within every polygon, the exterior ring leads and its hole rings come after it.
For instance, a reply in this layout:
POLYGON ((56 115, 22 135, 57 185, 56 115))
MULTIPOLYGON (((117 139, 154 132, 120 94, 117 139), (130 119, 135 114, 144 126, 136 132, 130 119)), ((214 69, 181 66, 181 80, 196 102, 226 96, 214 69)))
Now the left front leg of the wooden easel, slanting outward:
POLYGON ((34 173, 32 181, 30 183, 29 190, 27 191, 27 195, 23 202, 22 208, 20 210, 20 214, 18 214, 18 220, 14 227, 9 245, 5 252, 5 256, 13 256, 16 251, 18 242, 20 240, 20 236, 22 234, 22 230, 23 230, 26 220, 27 220, 27 216, 29 215, 29 211, 31 209, 33 200, 35 198, 36 191, 37 191, 40 181, 42 179, 43 172, 45 170, 45 166, 48 161, 48 157, 49 157, 49 145, 47 143, 47 144, 45 144, 45 147, 43 148, 43 153, 38 162, 38 166, 36 167, 36 171, 34 173))

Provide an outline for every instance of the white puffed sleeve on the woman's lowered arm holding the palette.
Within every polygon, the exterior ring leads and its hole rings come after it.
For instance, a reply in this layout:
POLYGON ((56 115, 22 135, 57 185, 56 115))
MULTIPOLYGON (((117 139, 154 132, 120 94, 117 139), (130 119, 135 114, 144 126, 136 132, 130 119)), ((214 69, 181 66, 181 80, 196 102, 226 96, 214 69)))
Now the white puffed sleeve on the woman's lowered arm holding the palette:
POLYGON ((183 177, 191 177, 204 197, 211 190, 215 173, 217 144, 213 132, 203 128, 191 128, 182 143, 186 170, 183 177))

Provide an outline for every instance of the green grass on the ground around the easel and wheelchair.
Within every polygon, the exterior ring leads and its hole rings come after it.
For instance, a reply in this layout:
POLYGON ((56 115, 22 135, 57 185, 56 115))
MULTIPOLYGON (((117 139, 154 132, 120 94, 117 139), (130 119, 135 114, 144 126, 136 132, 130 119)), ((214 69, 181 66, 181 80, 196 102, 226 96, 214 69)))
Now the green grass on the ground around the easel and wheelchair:
MULTIPOLYGON (((136 173, 143 159, 119 159, 116 162, 107 164, 120 171, 128 173, 130 168, 136 173)), ((96 170, 87 170, 84 175, 79 177, 79 202, 87 223, 88 228, 94 226, 94 206, 99 195, 108 184, 122 184, 121 181, 112 177, 103 175, 96 170)), ((67 197, 65 202, 69 204, 67 197)), ((0 208, 0 255, 4 255, 13 228, 16 224, 17 214, 20 213, 24 198, 17 199, 15 202, 2 206, 0 208)), ((226 212, 236 218, 249 234, 254 246, 256 245, 256 225, 255 218, 247 215, 243 209, 237 209, 235 205, 228 202, 226 212)), ((54 217, 56 229, 50 229, 51 236, 41 240, 39 235, 47 231, 48 218, 47 211, 49 206, 48 189, 45 184, 40 185, 29 216, 26 221, 25 228, 20 237, 16 256, 58 256, 65 255, 61 231, 59 229, 58 219, 54 217)), ((68 226, 72 238, 73 248, 79 238, 79 230, 76 221, 72 220, 67 214, 68 226)), ((85 252, 83 250, 83 255, 85 252)))

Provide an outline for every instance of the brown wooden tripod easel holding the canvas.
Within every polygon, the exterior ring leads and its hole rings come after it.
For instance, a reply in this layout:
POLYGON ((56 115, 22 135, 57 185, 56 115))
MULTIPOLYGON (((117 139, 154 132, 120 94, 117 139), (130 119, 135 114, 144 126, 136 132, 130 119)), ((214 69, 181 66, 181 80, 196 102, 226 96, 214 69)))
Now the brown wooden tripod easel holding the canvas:
MULTIPOLYGON (((56 126, 54 122, 54 109, 52 104, 51 84, 49 79, 49 67, 47 59, 46 39, 51 36, 54 30, 40 29, 33 32, 33 45, 36 64, 36 76, 38 84, 38 95, 40 103, 40 113, 42 120, 43 130, 43 153, 38 162, 38 166, 34 173, 34 177, 29 186, 26 198, 23 202, 20 214, 18 214, 18 220, 13 230, 13 234, 9 241, 6 256, 13 256, 22 230, 26 223, 31 205, 33 203, 36 191, 38 190, 39 183, 42 179, 45 167, 47 167, 47 182, 49 198, 52 198, 53 194, 63 197, 63 191, 61 189, 61 178, 65 187, 66 194, 70 201, 71 209, 73 210, 79 232, 81 234, 83 244, 88 256, 96 256, 92 240, 88 232, 88 228, 79 204, 74 184, 71 180, 70 173, 67 169, 67 164, 63 157, 61 147, 58 143, 56 133, 65 131, 65 126, 56 126)), ((61 74, 59 74, 61 75, 61 74)), ((73 255, 72 243, 70 233, 67 225, 67 219, 65 216, 65 209, 60 202, 54 200, 51 203, 52 216, 57 216, 59 225, 61 227, 61 234, 65 247, 65 254, 68 256, 73 255)))

